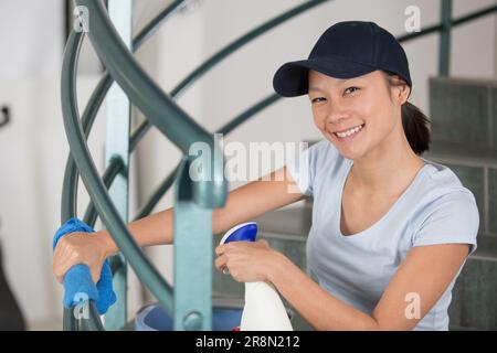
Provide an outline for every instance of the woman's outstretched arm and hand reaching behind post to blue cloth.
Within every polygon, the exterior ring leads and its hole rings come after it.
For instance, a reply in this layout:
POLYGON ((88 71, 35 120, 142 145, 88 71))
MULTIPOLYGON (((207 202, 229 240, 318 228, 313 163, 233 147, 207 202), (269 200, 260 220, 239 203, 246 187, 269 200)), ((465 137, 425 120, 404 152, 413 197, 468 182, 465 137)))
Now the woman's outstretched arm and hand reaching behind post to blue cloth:
MULTIPOLYGON (((287 176, 286 168, 272 172, 229 193, 226 204, 212 213, 212 232, 221 233, 232 226, 253 220, 265 212, 294 203, 304 197, 296 191, 295 182, 287 176)), ((158 212, 128 224, 128 229, 140 246, 171 244, 173 208, 158 212)), ((88 265, 92 278, 99 278, 106 257, 118 250, 107 231, 88 236, 73 233, 57 244, 53 257, 53 271, 60 282, 65 272, 76 264, 88 265)))

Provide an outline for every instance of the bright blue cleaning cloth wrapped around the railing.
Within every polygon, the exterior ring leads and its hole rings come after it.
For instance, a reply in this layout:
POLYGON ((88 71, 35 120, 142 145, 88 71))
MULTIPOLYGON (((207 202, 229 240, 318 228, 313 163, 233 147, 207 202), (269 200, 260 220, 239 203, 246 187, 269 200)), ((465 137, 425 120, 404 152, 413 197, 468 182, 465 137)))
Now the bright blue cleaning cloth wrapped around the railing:
MULTIPOLYGON (((74 233, 95 231, 77 218, 71 218, 63 224, 53 237, 53 249, 61 237, 74 233)), ((75 265, 64 276, 64 300, 65 308, 73 308, 83 300, 94 300, 99 314, 107 312, 108 308, 116 302, 116 293, 113 289, 113 274, 110 265, 106 259, 102 266, 101 279, 95 284, 92 280, 88 266, 84 264, 75 265)))

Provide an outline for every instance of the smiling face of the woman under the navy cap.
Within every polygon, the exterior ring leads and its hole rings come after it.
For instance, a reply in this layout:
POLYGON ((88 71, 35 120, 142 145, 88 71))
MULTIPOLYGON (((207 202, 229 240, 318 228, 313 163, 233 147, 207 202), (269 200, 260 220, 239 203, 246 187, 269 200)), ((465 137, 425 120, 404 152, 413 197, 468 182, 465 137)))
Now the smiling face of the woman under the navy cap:
POLYGON ((380 146, 389 148, 404 133, 401 105, 409 89, 391 88, 383 75, 374 71, 339 79, 309 71, 308 96, 314 121, 348 159, 360 159, 380 146))

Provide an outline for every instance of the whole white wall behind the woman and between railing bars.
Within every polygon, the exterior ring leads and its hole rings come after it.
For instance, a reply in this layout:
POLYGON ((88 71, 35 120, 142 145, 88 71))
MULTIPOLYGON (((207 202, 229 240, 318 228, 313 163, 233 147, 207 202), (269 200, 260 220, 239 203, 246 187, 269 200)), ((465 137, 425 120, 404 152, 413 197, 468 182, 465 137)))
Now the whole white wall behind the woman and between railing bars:
MULTIPOLYGON (((135 0, 136 22, 150 18, 168 1, 135 0), (148 2, 145 2, 148 1, 148 2), (140 12, 141 9, 141 12, 140 12), (137 20, 138 19, 138 20, 137 20)), ((247 30, 300 3, 297 0, 203 0, 165 24, 137 57, 169 92, 180 78, 247 30), (178 35, 179 34, 179 35, 178 35)), ((495 3, 456 0, 455 14, 495 3)), ((274 72, 284 62, 307 57, 317 38, 342 20, 372 20, 395 35, 404 34, 404 9, 416 4, 423 25, 440 17, 433 0, 335 0, 302 14, 255 40, 194 84, 178 103, 214 130, 248 105, 273 93, 274 72)), ((6 270, 31 323, 60 320, 62 288, 52 276, 51 239, 60 222, 60 195, 68 152, 60 109, 63 43, 62 0, 0 2, 0 104, 12 107, 12 124, 0 130, 0 216, 6 270), (42 29, 42 30, 40 30, 42 29)), ((454 31, 452 73, 496 77, 495 15, 454 31)), ((429 106, 427 77, 437 72, 436 34, 405 44, 414 83, 412 101, 429 106)), ((98 77, 78 81, 80 107, 98 77)), ((103 165, 105 117, 89 139, 95 162, 103 165)), ((139 119, 139 118, 138 118, 139 119)), ((282 99, 246 122, 226 141, 302 141, 319 138, 306 97, 282 99)), ((133 157, 131 215, 179 161, 171 142, 152 129, 133 157)), ((233 183, 231 188, 236 186, 233 183)), ((83 189, 83 188, 81 188, 83 189)), ((172 191, 172 190, 171 190, 172 191)), ((80 210, 87 195, 81 191, 80 210)), ((171 205, 171 192, 156 210, 171 205)), ((149 249, 161 272, 172 280, 170 247, 149 249)), ((140 288, 130 274, 130 317, 140 304, 140 288)))

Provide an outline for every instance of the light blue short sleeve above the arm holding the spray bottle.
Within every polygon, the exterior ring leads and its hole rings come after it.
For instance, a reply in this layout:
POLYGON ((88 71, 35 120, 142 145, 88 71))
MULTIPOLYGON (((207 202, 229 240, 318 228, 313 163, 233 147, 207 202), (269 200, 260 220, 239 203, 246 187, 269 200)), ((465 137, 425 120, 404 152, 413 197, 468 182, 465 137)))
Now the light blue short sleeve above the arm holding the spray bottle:
POLYGON ((476 250, 479 215, 470 191, 453 191, 434 201, 430 208, 413 236, 413 246, 470 244, 469 255, 476 250))

